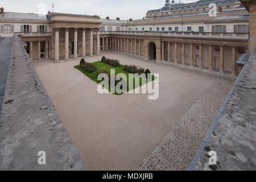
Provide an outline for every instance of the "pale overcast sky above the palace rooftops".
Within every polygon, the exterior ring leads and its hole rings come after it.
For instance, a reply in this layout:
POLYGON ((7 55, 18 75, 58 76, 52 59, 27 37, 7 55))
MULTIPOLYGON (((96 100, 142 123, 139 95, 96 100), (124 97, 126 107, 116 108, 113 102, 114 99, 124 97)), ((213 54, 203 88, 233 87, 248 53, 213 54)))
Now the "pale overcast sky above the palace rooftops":
MULTIPOLYGON (((183 3, 196 1, 181 0, 183 3)), ((110 16, 112 19, 141 19, 147 10, 160 9, 165 3, 164 0, 5 0, 0 6, 9 12, 42 14, 52 10, 52 2, 54 11, 58 13, 100 15, 101 18, 110 16)))

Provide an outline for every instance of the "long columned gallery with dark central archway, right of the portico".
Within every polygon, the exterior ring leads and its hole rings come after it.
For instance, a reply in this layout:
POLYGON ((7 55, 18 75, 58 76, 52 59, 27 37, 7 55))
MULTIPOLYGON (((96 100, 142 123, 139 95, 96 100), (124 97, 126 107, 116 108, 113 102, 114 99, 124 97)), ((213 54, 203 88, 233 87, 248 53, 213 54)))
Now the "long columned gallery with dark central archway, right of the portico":
POLYGON ((247 39, 161 36, 157 32, 100 36, 101 51, 118 51, 198 71, 237 75, 236 60, 247 51, 247 39), (143 34, 143 35, 142 35, 143 34))

